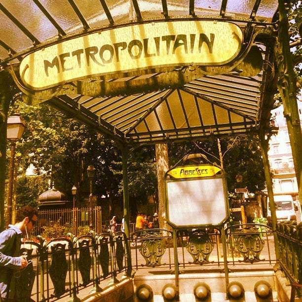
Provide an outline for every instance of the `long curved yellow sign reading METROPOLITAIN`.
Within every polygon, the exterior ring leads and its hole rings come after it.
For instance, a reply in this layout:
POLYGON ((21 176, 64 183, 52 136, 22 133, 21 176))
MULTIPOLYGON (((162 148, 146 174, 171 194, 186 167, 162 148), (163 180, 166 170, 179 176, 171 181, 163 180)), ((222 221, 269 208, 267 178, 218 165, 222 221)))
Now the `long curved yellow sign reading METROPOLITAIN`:
POLYGON ((168 66, 219 66, 234 59, 241 29, 221 21, 135 24, 72 38, 20 63, 23 83, 42 90, 76 79, 168 66))

